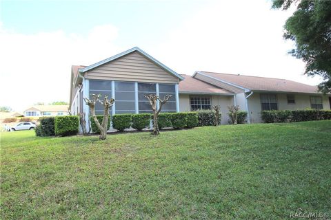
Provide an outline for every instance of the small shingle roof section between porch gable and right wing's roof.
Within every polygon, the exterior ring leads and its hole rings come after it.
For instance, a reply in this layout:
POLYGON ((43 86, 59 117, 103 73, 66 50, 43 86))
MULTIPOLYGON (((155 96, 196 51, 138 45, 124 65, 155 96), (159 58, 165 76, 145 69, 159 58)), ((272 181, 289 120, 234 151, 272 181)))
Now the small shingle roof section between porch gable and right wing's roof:
POLYGON ((210 85, 192 76, 183 75, 184 80, 179 83, 179 93, 197 94, 233 94, 231 91, 210 85))

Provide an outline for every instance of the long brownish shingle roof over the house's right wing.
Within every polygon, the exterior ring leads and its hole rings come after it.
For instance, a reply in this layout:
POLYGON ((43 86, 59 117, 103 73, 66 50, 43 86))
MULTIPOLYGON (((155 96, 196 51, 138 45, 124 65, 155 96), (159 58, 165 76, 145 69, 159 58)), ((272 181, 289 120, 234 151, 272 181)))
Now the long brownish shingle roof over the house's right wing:
MULTIPOLYGON (((198 72, 199 73, 199 72, 198 72)), ((297 83, 292 80, 285 80, 281 78, 265 78, 259 76, 243 76, 234 74, 219 74, 214 72, 202 72, 207 76, 224 80, 228 83, 233 83, 240 87, 256 91, 285 91, 315 94, 318 93, 317 87, 297 83)))

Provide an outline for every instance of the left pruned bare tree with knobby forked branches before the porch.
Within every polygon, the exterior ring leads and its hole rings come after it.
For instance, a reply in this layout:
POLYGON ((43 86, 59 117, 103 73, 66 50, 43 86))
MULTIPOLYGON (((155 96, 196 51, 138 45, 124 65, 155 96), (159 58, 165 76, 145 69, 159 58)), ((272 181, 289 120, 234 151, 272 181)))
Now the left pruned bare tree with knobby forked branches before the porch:
POLYGON ((100 100, 101 94, 99 94, 99 95, 91 94, 91 96, 92 96, 92 99, 84 98, 84 101, 90 107, 92 118, 93 118, 95 124, 97 125, 98 129, 100 130, 99 139, 105 140, 107 137, 107 130, 108 130, 109 109, 111 109, 115 100, 114 100, 114 98, 108 99, 108 96, 105 96, 103 98, 103 100, 100 100), (102 120, 101 124, 99 123, 99 121, 97 119, 97 115, 95 115, 95 104, 97 104, 97 102, 100 102, 104 107, 103 120, 102 120))

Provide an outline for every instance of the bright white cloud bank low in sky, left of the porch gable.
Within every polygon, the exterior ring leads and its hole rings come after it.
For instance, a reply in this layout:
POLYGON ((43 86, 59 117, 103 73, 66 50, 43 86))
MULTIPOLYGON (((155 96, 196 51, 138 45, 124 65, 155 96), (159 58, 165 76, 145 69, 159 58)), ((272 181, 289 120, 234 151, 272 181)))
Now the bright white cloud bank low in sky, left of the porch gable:
POLYGON ((22 111, 34 102, 68 101, 71 65, 90 65, 116 54, 117 36, 113 25, 80 36, 62 30, 20 34, 0 24, 0 105, 22 111))

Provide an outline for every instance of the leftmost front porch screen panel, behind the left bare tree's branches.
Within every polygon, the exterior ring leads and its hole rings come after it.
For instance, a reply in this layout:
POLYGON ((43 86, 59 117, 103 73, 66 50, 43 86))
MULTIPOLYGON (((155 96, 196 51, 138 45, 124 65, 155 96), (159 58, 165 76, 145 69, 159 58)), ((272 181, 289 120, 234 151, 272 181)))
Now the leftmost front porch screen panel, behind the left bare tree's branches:
MULTIPOLYGON (((101 99, 105 96, 112 98, 112 81, 110 80, 90 80, 89 98, 92 98, 91 94, 101 94, 101 99)), ((95 104, 95 113, 97 115, 103 115, 103 105, 99 102, 95 104)))

